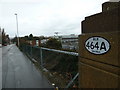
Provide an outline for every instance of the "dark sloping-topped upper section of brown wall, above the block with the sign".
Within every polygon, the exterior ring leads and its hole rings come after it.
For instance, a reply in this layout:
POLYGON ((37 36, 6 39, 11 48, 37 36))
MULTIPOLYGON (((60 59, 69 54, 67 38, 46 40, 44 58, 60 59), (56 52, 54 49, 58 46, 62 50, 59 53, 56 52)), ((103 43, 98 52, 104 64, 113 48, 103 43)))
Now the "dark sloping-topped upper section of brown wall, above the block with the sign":
POLYGON ((120 31, 120 7, 86 17, 82 33, 120 31))

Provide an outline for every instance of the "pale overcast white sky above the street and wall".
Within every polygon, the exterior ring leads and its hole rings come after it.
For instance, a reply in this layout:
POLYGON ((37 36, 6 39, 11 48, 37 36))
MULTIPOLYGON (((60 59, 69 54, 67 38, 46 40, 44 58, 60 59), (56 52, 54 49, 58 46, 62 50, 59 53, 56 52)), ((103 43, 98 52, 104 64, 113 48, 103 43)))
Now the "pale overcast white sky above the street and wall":
POLYGON ((102 11, 108 0, 0 0, 0 27, 10 37, 81 34, 81 21, 102 11))

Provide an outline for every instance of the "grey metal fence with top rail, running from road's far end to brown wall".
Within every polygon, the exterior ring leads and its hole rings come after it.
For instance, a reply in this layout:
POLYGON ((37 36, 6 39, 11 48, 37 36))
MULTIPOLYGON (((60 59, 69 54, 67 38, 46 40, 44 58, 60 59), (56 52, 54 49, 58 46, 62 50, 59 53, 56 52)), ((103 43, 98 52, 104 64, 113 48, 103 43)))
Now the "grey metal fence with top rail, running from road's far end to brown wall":
POLYGON ((20 45, 20 49, 37 61, 43 69, 50 71, 53 77, 55 76, 54 79, 58 79, 53 80, 57 86, 78 86, 78 53, 30 45, 20 45), (60 77, 63 78, 63 83, 59 80, 60 77))

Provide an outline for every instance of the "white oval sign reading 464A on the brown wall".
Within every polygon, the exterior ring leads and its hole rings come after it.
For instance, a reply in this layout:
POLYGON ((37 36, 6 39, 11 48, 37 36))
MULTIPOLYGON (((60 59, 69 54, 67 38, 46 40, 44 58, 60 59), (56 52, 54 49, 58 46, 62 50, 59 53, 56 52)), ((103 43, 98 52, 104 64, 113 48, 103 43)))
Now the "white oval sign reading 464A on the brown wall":
POLYGON ((102 37, 91 37, 85 42, 86 49, 93 54, 104 54, 110 49, 110 43, 102 37))

